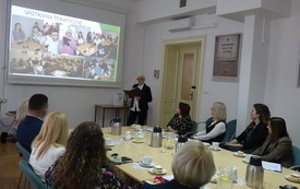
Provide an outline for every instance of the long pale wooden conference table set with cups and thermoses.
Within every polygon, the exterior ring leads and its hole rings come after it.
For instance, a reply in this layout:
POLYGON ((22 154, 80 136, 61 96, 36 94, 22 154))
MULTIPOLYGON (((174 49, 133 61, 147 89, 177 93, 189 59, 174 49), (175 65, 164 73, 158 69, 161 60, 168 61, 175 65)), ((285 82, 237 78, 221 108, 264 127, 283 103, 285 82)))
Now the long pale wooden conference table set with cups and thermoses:
MULTIPOLYGON (((136 169, 133 168, 134 164, 139 164, 140 161, 143 160, 144 156, 153 156, 154 162, 158 165, 161 165, 165 169, 167 169, 166 175, 172 175, 171 172, 171 162, 173 157, 175 150, 166 150, 164 147, 152 147, 151 144, 151 133, 149 131, 144 131, 145 141, 144 143, 133 143, 132 141, 124 141, 122 138, 127 131, 131 131, 131 135, 135 137, 137 131, 135 131, 131 127, 122 127, 121 135, 111 135, 111 128, 103 128, 105 138, 111 138, 116 145, 112 146, 111 151, 108 151, 108 156, 113 153, 118 153, 119 156, 128 156, 133 158, 133 163, 117 165, 124 174, 133 178, 139 182, 143 182, 143 180, 152 179, 156 175, 151 174, 147 169, 136 169)), ((164 146, 163 140, 163 146, 164 146)), ((245 182, 245 169, 247 163, 242 162, 241 157, 237 157, 232 152, 220 150, 220 151, 212 151, 214 155, 214 161, 216 168, 223 165, 232 165, 238 167, 238 177, 245 182)), ((291 182, 285 178, 286 175, 290 175, 292 173, 297 173, 295 170, 284 168, 283 173, 276 173, 271 170, 264 172, 264 182, 269 185, 269 188, 279 188, 279 186, 292 185, 300 188, 300 184, 291 182)), ((298 173, 299 174, 299 173, 298 173)), ((207 185, 211 189, 216 188, 216 184, 207 185)), ((238 186, 233 185, 233 188, 249 188, 247 186, 238 186)))

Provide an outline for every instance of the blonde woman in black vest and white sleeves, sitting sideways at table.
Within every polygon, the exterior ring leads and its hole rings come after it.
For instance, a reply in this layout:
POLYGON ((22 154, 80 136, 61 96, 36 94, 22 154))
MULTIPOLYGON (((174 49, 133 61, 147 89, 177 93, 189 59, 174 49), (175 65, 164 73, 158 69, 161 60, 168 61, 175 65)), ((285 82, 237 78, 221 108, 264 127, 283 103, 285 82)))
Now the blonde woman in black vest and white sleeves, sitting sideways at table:
POLYGON ((220 102, 214 103, 211 108, 213 121, 206 127, 205 130, 197 132, 193 139, 203 142, 221 142, 226 131, 226 106, 220 102))

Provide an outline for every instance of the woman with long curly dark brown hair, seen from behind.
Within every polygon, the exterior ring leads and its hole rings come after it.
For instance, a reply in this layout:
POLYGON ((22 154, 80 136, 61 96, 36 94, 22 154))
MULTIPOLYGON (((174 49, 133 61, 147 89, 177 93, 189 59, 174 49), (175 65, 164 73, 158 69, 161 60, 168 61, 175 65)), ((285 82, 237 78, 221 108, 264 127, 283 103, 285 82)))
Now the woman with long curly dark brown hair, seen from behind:
POLYGON ((64 155, 46 173, 46 182, 63 189, 125 188, 117 175, 105 169, 118 172, 106 155, 101 128, 86 121, 71 133, 64 155))

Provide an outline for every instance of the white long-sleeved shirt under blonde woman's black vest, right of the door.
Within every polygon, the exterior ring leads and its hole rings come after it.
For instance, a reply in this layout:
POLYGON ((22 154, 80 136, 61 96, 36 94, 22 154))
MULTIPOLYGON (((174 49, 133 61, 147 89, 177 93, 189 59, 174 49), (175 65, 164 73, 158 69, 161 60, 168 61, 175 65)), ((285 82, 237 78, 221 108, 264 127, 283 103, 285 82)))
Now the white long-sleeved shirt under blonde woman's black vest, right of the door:
MULTIPOLYGON (((213 126, 214 123, 216 123, 216 122, 217 121, 213 121, 208 126, 208 128, 211 126, 213 126)), ((194 139, 197 139, 197 140, 201 140, 201 141, 206 141, 206 140, 211 140, 211 139, 214 139, 214 138, 223 134, 225 131, 226 131, 225 122, 218 122, 211 132, 206 133, 206 129, 204 129, 204 130, 197 132, 196 135, 194 137, 194 139)))

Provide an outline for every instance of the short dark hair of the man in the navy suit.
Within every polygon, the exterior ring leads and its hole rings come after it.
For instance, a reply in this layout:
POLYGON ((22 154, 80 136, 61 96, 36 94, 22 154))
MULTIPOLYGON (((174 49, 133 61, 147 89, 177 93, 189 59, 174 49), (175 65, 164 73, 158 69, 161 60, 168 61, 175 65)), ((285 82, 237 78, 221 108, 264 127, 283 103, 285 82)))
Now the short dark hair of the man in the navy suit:
POLYGON ((48 97, 45 94, 34 94, 29 98, 28 109, 33 111, 40 111, 48 106, 48 97))

